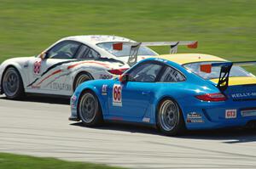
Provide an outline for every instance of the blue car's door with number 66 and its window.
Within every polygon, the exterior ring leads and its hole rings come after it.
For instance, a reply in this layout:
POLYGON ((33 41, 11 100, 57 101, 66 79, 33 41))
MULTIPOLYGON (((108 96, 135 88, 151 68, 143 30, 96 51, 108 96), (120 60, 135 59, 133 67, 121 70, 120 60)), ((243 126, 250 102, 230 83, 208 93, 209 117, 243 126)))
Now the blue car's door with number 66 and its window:
POLYGON ((109 115, 143 117, 154 97, 156 78, 163 65, 146 62, 128 71, 127 82, 113 81, 108 87, 109 115))

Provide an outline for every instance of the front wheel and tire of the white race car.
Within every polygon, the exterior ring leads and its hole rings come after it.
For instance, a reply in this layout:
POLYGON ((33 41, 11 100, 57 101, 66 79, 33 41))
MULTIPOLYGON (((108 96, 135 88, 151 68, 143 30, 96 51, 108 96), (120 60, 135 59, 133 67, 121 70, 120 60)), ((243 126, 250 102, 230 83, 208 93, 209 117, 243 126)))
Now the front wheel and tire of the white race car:
POLYGON ((7 99, 21 99, 24 96, 23 82, 15 67, 9 67, 5 70, 2 87, 7 99))

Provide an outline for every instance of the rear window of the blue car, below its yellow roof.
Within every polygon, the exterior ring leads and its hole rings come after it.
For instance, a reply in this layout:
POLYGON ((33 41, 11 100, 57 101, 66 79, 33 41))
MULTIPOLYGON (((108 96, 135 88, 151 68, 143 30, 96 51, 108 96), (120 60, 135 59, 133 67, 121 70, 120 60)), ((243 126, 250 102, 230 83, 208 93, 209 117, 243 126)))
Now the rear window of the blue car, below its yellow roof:
MULTIPOLYGON (((186 69, 191 70, 193 73, 195 73, 198 76, 203 77, 204 79, 216 79, 219 77, 220 73, 220 67, 212 67, 211 73, 206 73, 200 70, 200 65, 210 65, 212 63, 218 63, 218 62, 197 62, 197 63, 190 63, 183 65, 186 69)), ((230 76, 253 76, 253 74, 247 72, 247 70, 244 70, 240 66, 233 65, 230 70, 230 76)))

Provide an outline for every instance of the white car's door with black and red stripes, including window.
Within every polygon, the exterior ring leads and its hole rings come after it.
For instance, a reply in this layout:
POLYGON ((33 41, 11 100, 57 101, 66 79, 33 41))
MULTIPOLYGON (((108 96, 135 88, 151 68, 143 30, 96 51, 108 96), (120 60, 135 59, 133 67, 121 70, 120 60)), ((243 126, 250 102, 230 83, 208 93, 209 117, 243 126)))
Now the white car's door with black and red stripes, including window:
POLYGON ((30 60, 27 89, 32 93, 67 95, 72 87, 65 82, 68 75, 64 74, 67 73, 67 64, 74 61, 80 45, 80 42, 62 41, 46 51, 45 59, 36 57, 30 60))

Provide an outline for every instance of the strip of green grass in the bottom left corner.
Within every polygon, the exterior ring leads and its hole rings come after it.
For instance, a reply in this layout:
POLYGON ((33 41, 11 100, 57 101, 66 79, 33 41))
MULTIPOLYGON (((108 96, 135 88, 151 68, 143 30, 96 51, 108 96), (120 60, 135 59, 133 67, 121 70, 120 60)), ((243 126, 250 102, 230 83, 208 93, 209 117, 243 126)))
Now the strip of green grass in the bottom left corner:
POLYGON ((3 169, 121 169, 83 162, 61 161, 55 158, 38 158, 27 155, 0 153, 0 168, 3 169))

